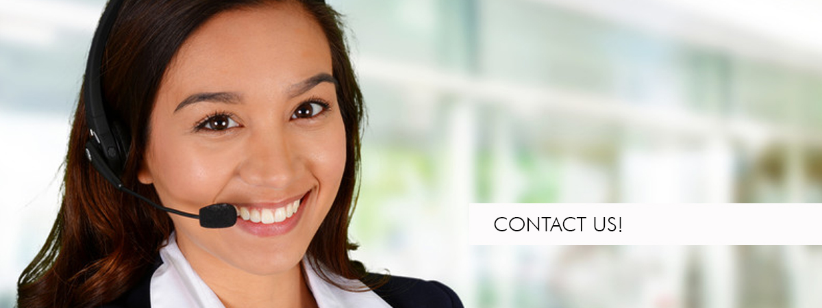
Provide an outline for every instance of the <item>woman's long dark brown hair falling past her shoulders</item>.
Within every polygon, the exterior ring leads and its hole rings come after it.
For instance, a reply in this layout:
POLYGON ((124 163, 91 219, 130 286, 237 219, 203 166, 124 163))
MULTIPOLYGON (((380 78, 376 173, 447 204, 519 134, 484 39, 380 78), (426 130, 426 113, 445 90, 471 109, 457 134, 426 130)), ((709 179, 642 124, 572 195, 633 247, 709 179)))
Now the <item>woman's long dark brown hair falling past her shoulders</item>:
MULTIPOLYGON (((148 122, 166 67, 192 31, 219 12, 276 0, 125 0, 104 49, 101 69, 109 118, 125 126, 131 145, 122 182, 159 203, 136 172, 145 153, 148 122)), ((279 0, 288 1, 288 0, 279 0)), ((346 135, 346 161, 336 198, 308 246, 308 260, 329 274, 365 278, 349 259, 348 227, 358 189, 363 95, 346 48, 339 14, 325 3, 300 0, 326 34, 346 135)), ((82 85, 85 88, 85 81, 82 85)), ((113 301, 147 274, 173 231, 168 214, 117 191, 85 159, 90 138, 82 96, 68 141, 62 204, 48 239, 17 281, 20 307, 88 307, 113 301)))

